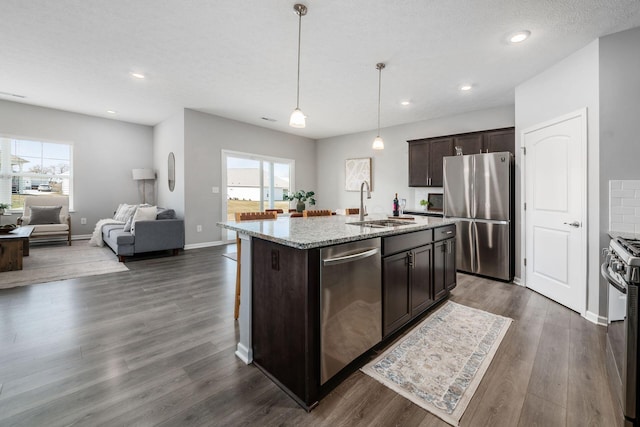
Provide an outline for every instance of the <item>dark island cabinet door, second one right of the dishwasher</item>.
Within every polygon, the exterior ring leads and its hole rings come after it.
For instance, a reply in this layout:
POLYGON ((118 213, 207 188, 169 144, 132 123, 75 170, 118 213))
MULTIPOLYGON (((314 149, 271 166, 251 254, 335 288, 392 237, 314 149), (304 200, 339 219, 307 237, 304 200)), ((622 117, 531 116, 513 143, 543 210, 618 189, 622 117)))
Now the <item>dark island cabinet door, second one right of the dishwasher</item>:
POLYGON ((431 260, 433 245, 414 249, 410 253, 411 317, 425 311, 433 304, 431 293, 431 260))

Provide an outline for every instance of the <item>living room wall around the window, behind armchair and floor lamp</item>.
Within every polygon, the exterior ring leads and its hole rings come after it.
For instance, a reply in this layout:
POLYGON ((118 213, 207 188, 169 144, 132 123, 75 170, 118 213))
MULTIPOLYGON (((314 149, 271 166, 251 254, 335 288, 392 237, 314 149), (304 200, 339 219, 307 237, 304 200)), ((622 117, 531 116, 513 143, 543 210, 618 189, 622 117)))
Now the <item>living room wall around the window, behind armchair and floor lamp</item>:
POLYGON ((73 143, 74 235, 90 234, 119 203, 142 202, 131 170, 152 167, 149 126, 0 100, 0 133, 73 143))

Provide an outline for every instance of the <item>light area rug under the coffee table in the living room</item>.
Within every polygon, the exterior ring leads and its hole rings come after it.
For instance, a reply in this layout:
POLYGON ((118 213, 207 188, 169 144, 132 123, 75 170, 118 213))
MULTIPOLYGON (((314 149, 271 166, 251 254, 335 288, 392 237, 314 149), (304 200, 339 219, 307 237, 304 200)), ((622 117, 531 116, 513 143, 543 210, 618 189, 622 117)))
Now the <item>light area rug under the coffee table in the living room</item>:
POLYGON ((36 244, 22 259, 22 270, 0 272, 0 289, 84 276, 128 271, 109 248, 74 240, 72 246, 36 244))

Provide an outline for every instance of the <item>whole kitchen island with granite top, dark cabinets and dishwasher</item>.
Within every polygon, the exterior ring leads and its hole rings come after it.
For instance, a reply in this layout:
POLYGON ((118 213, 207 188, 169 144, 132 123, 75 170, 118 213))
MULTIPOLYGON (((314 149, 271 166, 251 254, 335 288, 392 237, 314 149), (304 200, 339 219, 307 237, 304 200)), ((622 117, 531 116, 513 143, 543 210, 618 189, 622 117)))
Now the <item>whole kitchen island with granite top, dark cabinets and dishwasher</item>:
POLYGON ((362 354, 456 284, 455 224, 443 218, 283 216, 218 225, 242 242, 236 355, 307 410, 357 368, 362 354))

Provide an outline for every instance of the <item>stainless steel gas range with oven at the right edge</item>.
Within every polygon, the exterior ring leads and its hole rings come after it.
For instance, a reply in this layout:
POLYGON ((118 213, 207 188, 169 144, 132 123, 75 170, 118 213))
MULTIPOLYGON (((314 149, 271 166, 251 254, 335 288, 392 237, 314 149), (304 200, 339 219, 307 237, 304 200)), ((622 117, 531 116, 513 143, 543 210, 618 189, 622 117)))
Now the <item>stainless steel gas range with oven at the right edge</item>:
POLYGON ((638 286, 640 240, 616 237, 605 249, 600 271, 609 282, 607 371, 626 426, 637 426, 638 393, 638 286))

